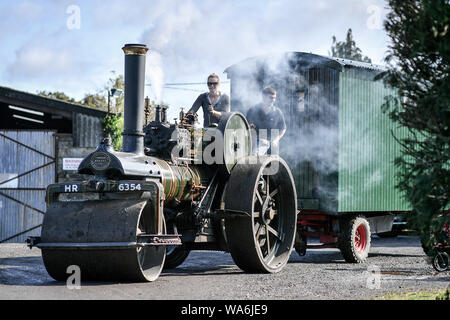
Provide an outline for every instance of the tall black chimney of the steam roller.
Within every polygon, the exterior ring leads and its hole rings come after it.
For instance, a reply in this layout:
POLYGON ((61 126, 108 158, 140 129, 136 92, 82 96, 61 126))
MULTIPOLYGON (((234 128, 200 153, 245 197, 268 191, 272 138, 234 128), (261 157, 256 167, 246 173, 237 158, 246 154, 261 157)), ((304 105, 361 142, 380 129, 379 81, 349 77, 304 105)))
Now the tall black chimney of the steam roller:
POLYGON ((125 53, 125 121, 123 130, 123 152, 144 154, 144 85, 145 55, 144 44, 126 44, 125 53))

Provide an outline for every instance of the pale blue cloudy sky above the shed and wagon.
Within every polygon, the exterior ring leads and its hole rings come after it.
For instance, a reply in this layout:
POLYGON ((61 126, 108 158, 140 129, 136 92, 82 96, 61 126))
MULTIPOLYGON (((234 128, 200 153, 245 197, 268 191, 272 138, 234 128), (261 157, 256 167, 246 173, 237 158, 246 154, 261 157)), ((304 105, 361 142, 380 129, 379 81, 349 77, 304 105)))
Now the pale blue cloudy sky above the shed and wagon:
POLYGON ((123 73, 125 43, 145 43, 153 84, 146 94, 169 103, 172 119, 206 85, 151 88, 206 82, 212 72, 225 81, 228 66, 260 54, 328 55, 332 36, 344 40, 348 28, 363 54, 383 64, 385 6, 381 0, 0 0, 0 86, 81 99, 102 89, 111 71, 123 73))

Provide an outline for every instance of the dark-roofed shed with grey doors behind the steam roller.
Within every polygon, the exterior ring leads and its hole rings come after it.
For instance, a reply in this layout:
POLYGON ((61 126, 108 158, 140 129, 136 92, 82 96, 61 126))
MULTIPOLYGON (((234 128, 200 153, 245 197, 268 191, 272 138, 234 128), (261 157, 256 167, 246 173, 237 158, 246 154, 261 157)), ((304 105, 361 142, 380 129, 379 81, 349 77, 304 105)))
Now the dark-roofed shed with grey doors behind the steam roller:
POLYGON ((24 242, 40 234, 47 185, 77 174, 106 112, 0 87, 0 115, 0 243, 24 242))

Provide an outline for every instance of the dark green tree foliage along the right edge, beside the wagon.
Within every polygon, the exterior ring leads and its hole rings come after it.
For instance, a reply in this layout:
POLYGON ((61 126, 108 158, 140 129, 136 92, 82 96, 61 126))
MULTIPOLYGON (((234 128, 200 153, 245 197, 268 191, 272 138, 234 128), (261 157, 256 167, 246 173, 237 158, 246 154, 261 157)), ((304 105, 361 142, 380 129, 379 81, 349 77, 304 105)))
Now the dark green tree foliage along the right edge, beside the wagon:
POLYGON ((389 0, 384 23, 391 39, 385 83, 390 117, 409 131, 399 139, 398 188, 427 246, 439 240, 450 197, 450 4, 448 0, 389 0))

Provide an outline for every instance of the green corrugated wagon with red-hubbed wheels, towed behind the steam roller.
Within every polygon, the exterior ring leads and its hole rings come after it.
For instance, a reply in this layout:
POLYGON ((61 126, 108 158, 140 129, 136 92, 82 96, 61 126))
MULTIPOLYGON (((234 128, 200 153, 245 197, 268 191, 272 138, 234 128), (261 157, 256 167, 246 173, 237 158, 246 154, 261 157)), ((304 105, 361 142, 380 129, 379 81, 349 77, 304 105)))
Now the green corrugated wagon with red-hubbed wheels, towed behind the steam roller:
POLYGON ((384 69, 320 55, 288 52, 246 59, 225 70, 231 108, 247 110, 272 86, 287 124, 279 153, 294 175, 298 222, 295 249, 338 247, 362 262, 371 234, 389 232, 410 210, 395 188, 397 128, 382 111, 394 94, 375 77, 384 69), (320 244, 307 245, 308 237, 320 244))

